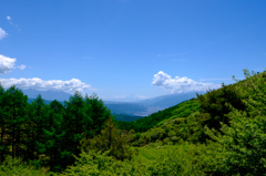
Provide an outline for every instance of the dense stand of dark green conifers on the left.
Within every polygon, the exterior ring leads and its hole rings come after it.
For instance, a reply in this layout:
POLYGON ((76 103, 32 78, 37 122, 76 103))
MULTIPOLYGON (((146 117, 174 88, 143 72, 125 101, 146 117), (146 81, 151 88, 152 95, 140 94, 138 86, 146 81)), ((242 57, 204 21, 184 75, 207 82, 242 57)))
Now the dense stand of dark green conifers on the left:
POLYGON ((61 104, 44 104, 39 95, 28 97, 16 86, 0 86, 0 159, 22 157, 33 165, 61 170, 74 163, 84 136, 100 134, 110 111, 96 95, 78 92, 61 104))

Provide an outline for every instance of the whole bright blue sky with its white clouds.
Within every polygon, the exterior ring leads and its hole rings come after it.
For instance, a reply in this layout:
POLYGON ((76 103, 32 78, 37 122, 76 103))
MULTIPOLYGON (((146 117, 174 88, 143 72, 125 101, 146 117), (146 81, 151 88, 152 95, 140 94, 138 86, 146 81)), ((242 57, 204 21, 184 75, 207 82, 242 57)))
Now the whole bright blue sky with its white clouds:
POLYGON ((1 0, 0 81, 102 99, 215 89, 264 71, 265 31, 263 0, 1 0))

